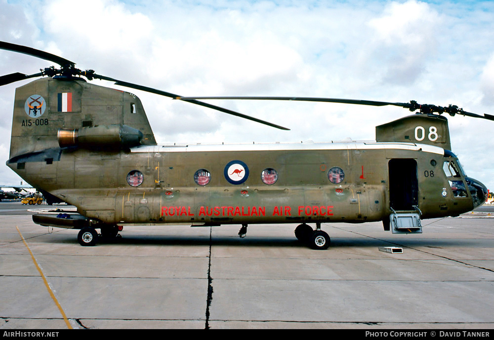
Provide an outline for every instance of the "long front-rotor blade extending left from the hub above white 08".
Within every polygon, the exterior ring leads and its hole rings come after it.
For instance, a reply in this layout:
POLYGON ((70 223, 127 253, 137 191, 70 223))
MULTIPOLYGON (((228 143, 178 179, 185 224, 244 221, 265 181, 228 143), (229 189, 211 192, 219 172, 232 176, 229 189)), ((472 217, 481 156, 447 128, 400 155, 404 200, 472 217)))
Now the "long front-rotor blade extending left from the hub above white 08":
POLYGON ((358 105, 371 105, 371 106, 394 105, 404 108, 409 108, 411 106, 410 103, 389 103, 389 102, 376 102, 372 100, 318 98, 318 97, 179 97, 175 99, 291 100, 291 101, 301 101, 301 102, 326 102, 326 103, 358 104, 358 105))

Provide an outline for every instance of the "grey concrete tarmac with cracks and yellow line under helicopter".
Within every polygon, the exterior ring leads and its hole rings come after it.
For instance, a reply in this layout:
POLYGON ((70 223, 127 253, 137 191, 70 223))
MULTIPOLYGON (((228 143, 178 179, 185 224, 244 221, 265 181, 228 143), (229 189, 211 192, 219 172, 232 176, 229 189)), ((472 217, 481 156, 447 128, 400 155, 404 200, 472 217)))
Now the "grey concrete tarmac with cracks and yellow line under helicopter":
POLYGON ((494 328, 490 210, 412 235, 323 224, 316 251, 296 225, 124 227, 82 247, 28 208, 0 203, 0 329, 494 328))

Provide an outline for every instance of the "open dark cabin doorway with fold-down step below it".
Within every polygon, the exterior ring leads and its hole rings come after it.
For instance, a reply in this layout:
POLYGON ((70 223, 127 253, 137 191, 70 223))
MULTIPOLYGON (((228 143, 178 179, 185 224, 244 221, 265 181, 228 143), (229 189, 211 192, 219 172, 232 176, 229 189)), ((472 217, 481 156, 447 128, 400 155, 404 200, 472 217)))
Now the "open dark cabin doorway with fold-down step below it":
POLYGON ((390 159, 388 170, 389 206, 393 211, 391 230, 393 233, 421 233, 417 161, 412 158, 390 159))

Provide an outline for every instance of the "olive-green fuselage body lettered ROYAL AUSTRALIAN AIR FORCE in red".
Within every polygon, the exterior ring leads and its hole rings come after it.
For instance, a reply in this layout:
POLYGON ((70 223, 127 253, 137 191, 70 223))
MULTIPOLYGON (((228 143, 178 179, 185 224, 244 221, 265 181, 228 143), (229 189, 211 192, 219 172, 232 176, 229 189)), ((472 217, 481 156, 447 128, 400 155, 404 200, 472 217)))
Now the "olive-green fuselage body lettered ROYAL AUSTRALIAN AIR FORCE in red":
POLYGON ((51 164, 12 168, 82 215, 110 224, 361 223, 390 214, 390 159, 416 161, 422 218, 471 210, 471 199, 453 197, 443 153, 411 143, 145 146, 65 150, 51 164), (225 167, 237 160, 247 166, 248 176, 232 184, 225 167), (333 167, 342 170, 340 183, 329 179, 333 167), (209 173, 206 185, 195 181, 201 169, 209 173), (265 169, 276 170, 275 183, 262 181, 265 169), (133 171, 142 174, 137 187, 127 181, 133 171), (446 195, 443 189, 449 190, 446 195))

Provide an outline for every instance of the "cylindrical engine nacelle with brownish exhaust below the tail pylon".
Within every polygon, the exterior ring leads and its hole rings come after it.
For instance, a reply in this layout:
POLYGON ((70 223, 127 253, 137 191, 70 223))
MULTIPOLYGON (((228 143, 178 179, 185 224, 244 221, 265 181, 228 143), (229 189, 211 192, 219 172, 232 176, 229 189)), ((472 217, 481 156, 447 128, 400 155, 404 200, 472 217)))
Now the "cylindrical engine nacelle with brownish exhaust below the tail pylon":
POLYGON ((98 125, 81 129, 60 129, 57 133, 60 148, 131 148, 141 144, 141 131, 126 125, 98 125))

